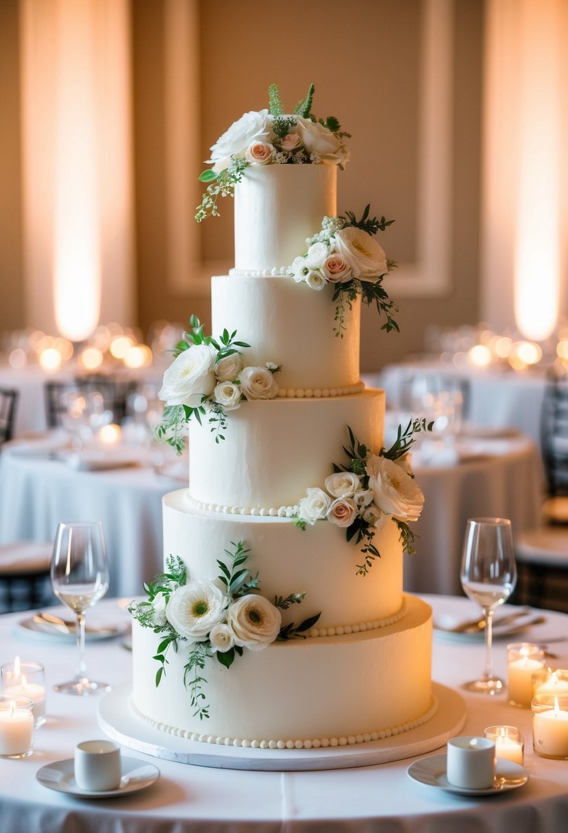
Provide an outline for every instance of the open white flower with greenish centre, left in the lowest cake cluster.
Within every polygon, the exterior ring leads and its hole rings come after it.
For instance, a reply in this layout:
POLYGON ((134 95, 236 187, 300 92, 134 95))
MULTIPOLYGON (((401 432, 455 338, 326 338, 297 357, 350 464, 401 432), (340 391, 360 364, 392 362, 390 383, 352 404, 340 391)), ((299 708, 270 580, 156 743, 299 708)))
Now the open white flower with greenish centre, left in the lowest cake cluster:
POLYGON ((167 602, 167 621, 180 636, 203 642, 222 619, 227 597, 212 581, 188 581, 167 602))

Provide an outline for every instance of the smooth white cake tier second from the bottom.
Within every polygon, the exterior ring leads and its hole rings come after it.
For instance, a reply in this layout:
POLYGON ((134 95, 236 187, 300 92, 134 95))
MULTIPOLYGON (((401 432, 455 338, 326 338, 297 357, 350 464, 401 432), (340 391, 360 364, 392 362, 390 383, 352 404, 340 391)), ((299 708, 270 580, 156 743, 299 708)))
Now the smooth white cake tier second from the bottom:
POLYGON ((260 578, 260 592, 275 596, 306 592, 301 605, 282 611, 282 621, 298 624, 321 611, 316 628, 371 630, 396 616, 402 605, 402 548, 396 525, 376 533, 376 559, 368 576, 357 576, 360 546, 346 541, 345 530, 317 521, 302 531, 286 518, 219 515, 192 507, 187 489, 162 499, 164 556, 179 556, 192 581, 219 575, 217 559, 230 541, 245 541, 247 568, 260 578))

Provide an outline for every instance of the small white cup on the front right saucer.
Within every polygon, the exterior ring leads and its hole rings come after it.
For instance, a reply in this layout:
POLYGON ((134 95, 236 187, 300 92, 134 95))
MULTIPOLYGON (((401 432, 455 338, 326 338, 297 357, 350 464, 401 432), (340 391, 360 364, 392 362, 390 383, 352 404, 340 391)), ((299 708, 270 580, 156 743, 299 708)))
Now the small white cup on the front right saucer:
POLYGON ((495 742, 486 737, 454 737, 448 741, 446 777, 451 786, 488 790, 495 777, 495 742))

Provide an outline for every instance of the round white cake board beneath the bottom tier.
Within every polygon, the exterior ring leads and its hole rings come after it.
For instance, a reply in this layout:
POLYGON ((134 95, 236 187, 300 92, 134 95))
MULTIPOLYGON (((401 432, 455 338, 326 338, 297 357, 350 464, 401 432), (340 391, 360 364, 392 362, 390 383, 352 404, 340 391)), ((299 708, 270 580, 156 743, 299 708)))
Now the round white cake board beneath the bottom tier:
POLYGON ((130 706, 131 684, 117 686, 98 704, 97 718, 102 731, 122 746, 165 761, 217 769, 301 771, 334 770, 401 761, 424 755, 444 746, 466 722, 466 704, 446 686, 432 683, 432 696, 438 701, 430 721, 402 735, 382 741, 369 741, 326 749, 250 749, 242 746, 188 741, 140 721, 130 706))

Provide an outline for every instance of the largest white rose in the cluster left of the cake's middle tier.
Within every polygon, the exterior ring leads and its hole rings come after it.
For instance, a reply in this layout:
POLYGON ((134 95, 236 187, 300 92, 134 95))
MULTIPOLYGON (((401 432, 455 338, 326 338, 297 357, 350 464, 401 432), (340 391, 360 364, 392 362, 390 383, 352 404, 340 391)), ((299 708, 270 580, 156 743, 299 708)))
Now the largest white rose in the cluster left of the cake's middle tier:
POLYGON ((158 397, 167 405, 201 405, 202 397, 212 394, 216 385, 213 365, 215 348, 208 344, 194 344, 175 358, 164 373, 158 397))

